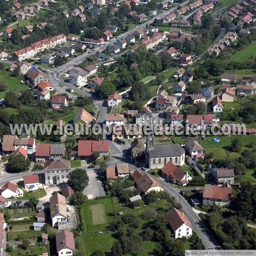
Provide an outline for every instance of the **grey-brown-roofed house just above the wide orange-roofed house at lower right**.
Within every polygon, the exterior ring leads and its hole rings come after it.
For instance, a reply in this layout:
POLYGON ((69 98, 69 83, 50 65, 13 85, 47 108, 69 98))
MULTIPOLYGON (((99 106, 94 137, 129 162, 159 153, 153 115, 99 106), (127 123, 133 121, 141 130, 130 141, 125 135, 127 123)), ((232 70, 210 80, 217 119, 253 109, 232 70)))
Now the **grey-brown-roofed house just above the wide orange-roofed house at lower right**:
POLYGON ((215 168, 211 169, 211 174, 217 185, 224 183, 234 183, 234 169, 215 168))

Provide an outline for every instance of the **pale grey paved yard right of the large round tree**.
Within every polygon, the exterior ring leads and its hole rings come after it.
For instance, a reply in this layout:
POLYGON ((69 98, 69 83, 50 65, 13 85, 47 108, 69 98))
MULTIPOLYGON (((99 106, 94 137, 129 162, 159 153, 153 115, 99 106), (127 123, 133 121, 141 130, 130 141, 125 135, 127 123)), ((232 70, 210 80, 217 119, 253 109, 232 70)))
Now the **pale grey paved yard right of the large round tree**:
POLYGON ((94 199, 97 196, 107 195, 102 181, 97 179, 97 177, 99 177, 99 169, 87 168, 86 171, 90 180, 89 185, 84 189, 84 195, 87 195, 88 199, 94 199))

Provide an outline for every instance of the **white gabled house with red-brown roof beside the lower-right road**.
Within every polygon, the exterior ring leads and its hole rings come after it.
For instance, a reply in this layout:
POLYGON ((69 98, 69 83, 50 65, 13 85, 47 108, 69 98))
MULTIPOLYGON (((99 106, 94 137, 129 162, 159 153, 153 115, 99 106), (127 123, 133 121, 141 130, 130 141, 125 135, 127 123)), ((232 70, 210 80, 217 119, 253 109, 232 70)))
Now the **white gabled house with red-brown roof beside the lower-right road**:
POLYGON ((173 208, 166 215, 175 238, 181 238, 183 236, 189 237, 192 235, 192 225, 184 215, 184 212, 180 212, 178 209, 173 208))

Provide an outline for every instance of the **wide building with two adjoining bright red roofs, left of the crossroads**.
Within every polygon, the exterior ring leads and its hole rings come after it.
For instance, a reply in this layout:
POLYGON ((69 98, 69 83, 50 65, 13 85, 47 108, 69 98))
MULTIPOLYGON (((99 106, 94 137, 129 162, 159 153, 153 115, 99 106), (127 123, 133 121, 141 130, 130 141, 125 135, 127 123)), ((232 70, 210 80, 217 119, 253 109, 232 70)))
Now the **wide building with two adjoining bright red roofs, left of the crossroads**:
POLYGON ((102 140, 79 140, 77 146, 77 153, 74 154, 74 159, 78 160, 92 160, 93 152, 99 152, 100 155, 109 154, 109 141, 102 140))

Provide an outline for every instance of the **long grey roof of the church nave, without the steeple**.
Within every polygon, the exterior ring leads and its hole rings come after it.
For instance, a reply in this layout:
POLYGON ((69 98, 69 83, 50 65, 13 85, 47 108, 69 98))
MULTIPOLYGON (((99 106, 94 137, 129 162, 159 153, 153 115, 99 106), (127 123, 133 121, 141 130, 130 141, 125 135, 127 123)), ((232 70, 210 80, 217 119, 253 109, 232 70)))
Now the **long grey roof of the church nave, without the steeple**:
POLYGON ((185 150, 180 145, 155 145, 154 149, 148 151, 150 158, 157 157, 180 157, 185 150))

